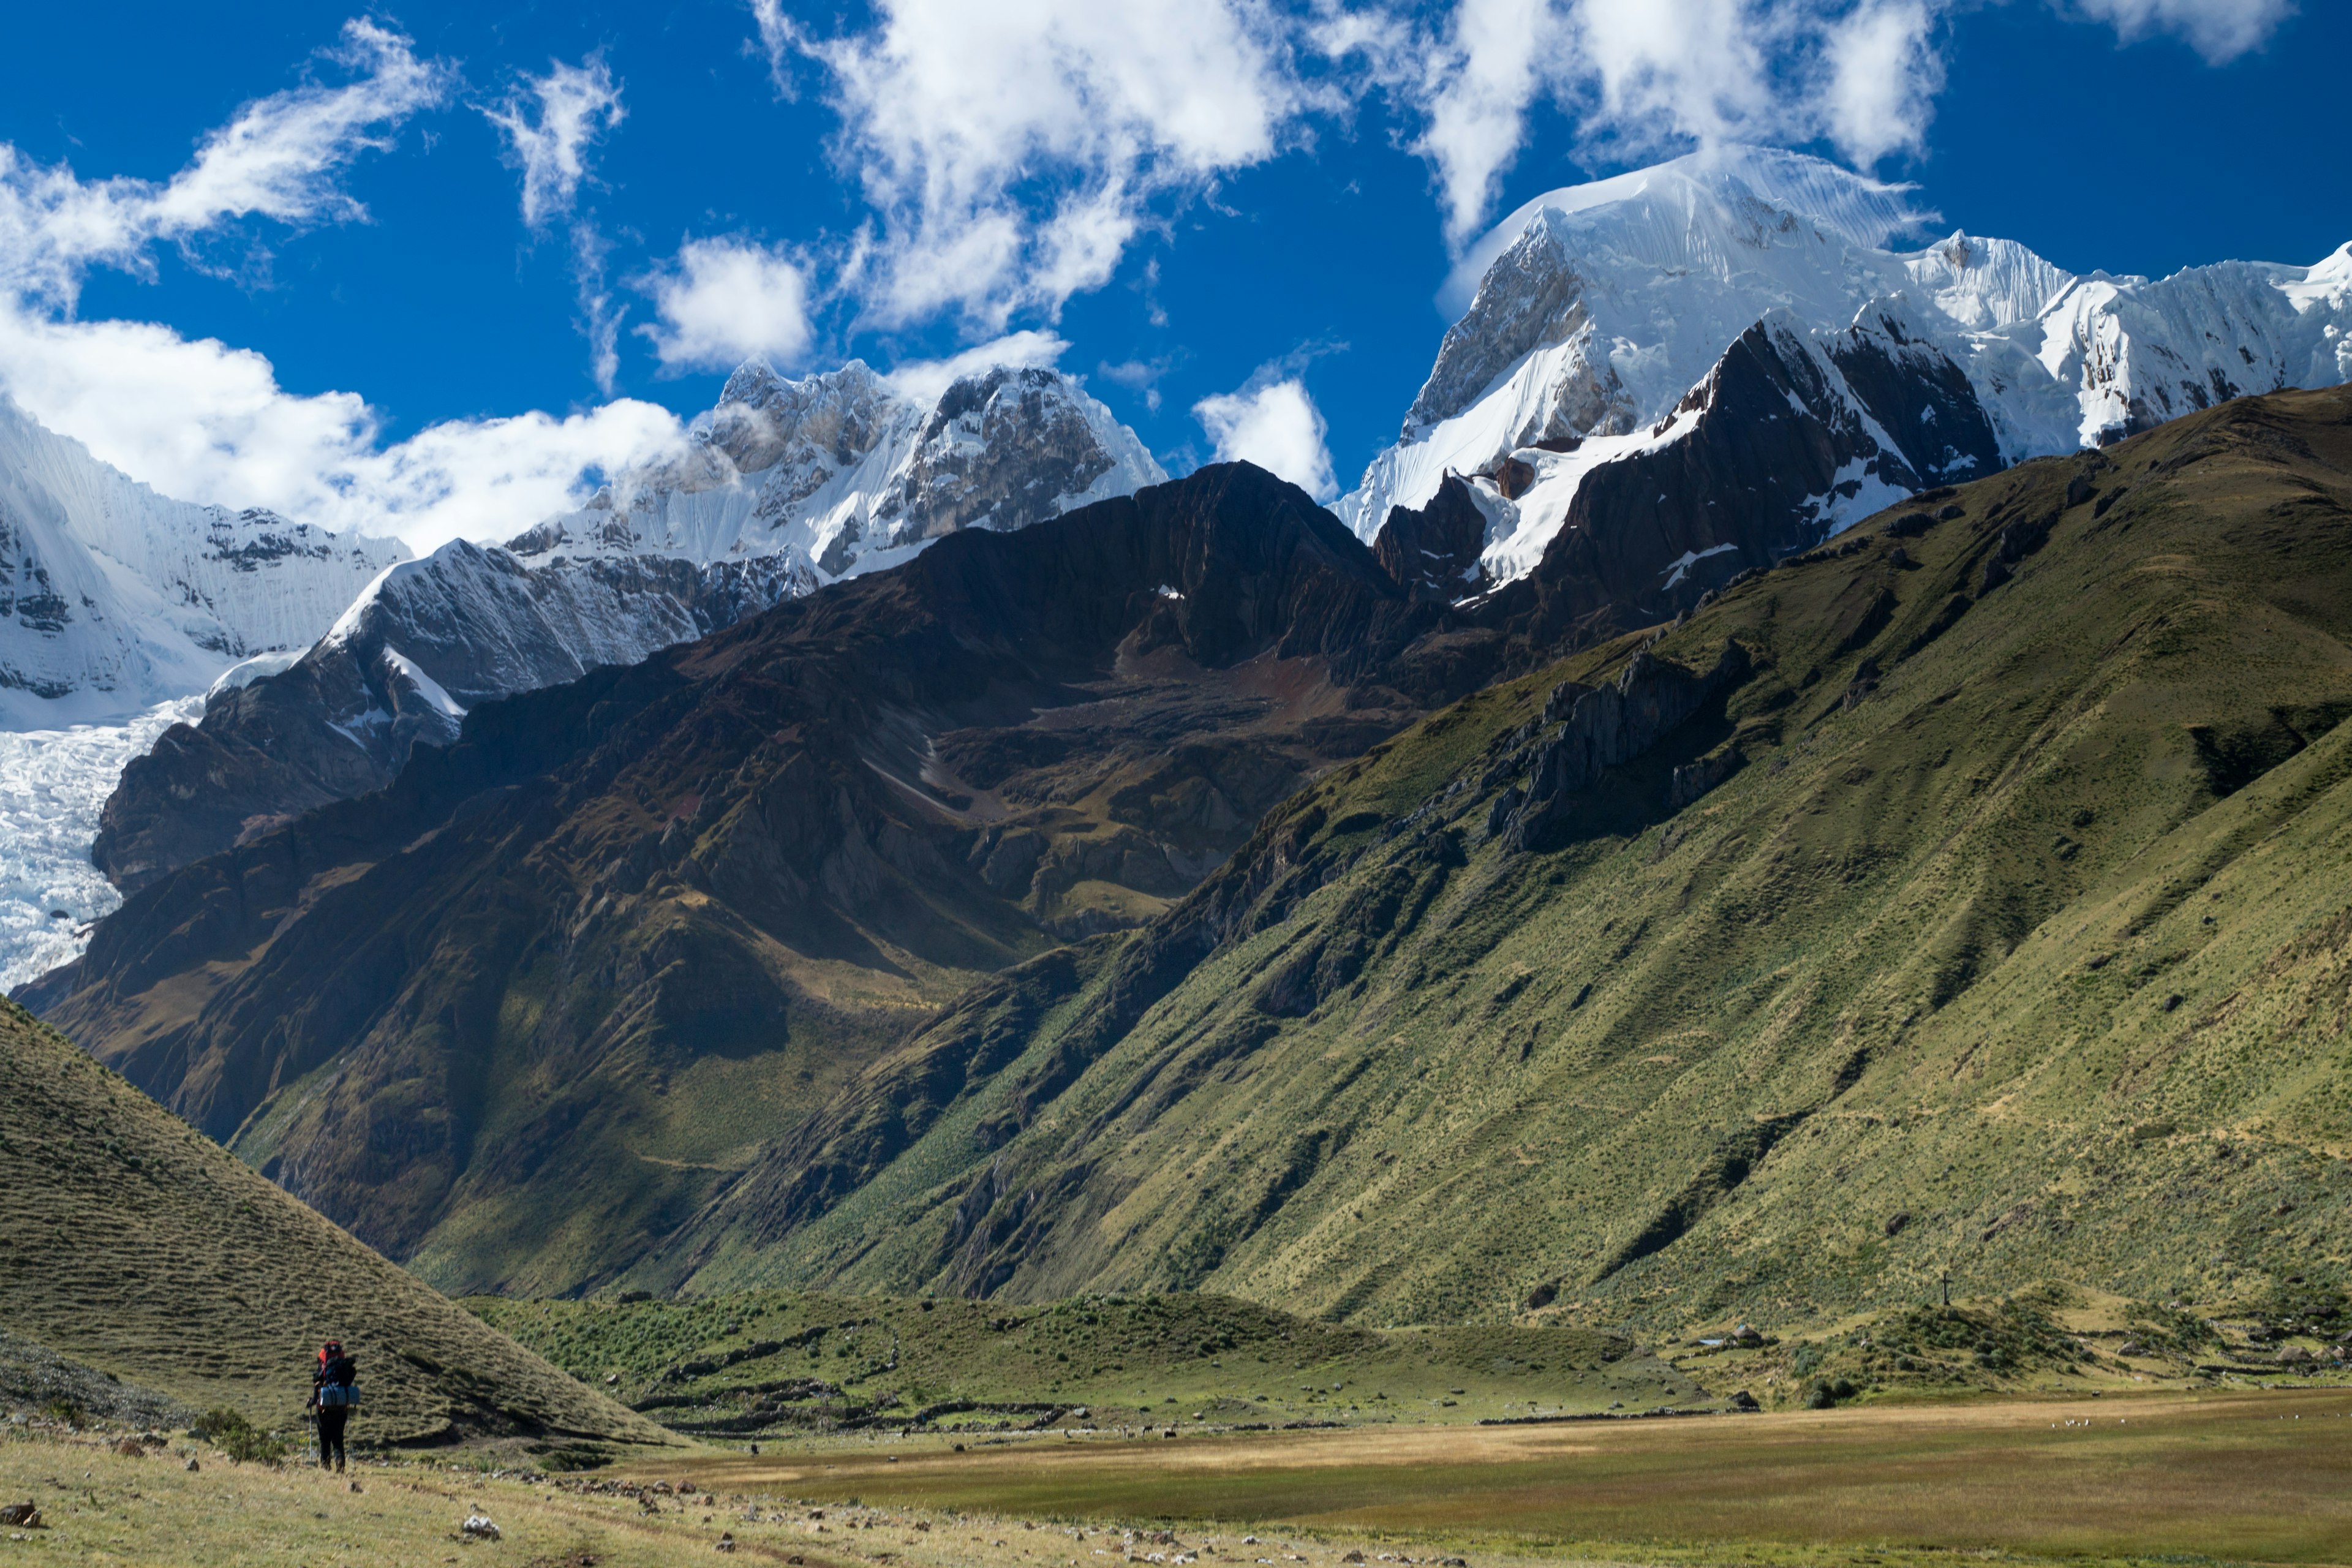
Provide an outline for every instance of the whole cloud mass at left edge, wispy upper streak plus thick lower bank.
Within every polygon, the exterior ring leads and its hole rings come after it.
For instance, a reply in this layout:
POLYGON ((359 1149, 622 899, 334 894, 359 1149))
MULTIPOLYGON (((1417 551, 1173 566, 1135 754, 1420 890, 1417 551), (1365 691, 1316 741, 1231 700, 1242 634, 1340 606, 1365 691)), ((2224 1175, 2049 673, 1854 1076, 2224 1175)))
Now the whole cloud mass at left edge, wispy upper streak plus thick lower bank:
POLYGON ((452 421, 386 447, 360 395, 287 393, 252 350, 153 322, 73 320, 89 268, 151 275, 160 242, 191 247, 249 216, 365 216, 341 169, 447 96, 452 75, 369 21, 346 24, 327 59, 350 73, 346 85, 247 103, 165 183, 82 181, 0 143, 0 390, 169 496, 266 505, 416 548, 506 538, 581 501, 597 473, 670 451, 677 418, 644 402, 452 421))

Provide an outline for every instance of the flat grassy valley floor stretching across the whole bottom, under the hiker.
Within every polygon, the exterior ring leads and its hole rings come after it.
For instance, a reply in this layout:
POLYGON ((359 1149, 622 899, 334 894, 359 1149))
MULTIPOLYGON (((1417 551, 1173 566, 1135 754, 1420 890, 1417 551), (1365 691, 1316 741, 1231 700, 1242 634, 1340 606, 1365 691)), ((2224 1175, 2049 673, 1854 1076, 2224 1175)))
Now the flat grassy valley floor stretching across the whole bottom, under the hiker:
POLYGON ((1176 1441, 828 1439, 581 1479, 0 1429, 0 1563, 804 1568, 2352 1561, 2352 1389, 1176 1441), (200 1467, 186 1469, 195 1455, 200 1467), (466 1540, 468 1514, 501 1540, 466 1540), (727 1540, 731 1547, 722 1547, 727 1540), (1359 1556, 1355 1556, 1359 1554, 1359 1556))

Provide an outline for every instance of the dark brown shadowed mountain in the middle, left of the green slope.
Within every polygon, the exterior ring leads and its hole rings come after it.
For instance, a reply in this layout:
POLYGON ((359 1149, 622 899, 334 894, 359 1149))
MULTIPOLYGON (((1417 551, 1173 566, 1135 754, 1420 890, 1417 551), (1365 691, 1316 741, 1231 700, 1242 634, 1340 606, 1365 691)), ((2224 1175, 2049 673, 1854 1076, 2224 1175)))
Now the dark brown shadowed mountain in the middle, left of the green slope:
POLYGON ((477 708, 26 997, 428 1279, 572 1291, 969 983, 1183 898, 1489 642, 1207 468, 477 708))

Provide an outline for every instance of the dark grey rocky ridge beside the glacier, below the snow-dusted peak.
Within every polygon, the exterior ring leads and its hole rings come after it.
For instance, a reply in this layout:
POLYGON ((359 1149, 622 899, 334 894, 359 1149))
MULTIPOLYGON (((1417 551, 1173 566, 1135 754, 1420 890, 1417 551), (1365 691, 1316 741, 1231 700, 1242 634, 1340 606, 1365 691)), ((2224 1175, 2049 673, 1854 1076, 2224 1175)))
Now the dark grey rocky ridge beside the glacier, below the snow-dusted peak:
POLYGON ((294 668, 223 691, 136 757, 92 860, 125 889, 388 785, 468 708, 715 632, 814 583, 783 557, 626 555, 524 569, 452 543, 379 581, 294 668))

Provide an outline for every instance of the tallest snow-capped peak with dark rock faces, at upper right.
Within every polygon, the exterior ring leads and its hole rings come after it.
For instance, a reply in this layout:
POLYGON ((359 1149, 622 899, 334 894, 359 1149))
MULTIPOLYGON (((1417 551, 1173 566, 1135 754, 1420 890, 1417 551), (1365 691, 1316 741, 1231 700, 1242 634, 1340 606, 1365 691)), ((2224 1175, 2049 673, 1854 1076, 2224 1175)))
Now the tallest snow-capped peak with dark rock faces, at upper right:
POLYGON ((1529 202, 1456 273, 1463 315, 1341 517, 1376 538, 1458 489, 1475 527, 1395 562, 1423 592, 1489 592, 1583 534, 1639 621, 1905 491, 2352 378, 2352 247, 2152 282, 1966 233, 1889 249, 1926 221, 1738 146, 1529 202), (1726 473, 1726 433, 1776 461, 1726 473))

